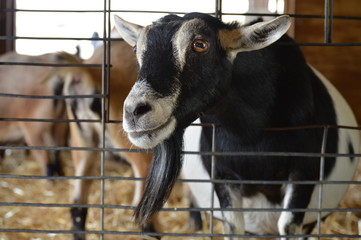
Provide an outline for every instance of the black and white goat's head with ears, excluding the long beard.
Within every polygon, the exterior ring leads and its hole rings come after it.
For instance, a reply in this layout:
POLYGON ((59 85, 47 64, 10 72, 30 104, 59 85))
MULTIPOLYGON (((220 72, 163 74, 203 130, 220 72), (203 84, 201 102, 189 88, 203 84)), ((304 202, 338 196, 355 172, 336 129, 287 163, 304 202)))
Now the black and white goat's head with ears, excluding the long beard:
POLYGON ((140 66, 123 127, 142 148, 156 146, 214 104, 229 86, 238 52, 264 48, 290 26, 288 16, 239 26, 200 13, 168 15, 147 27, 117 16, 115 22, 140 66))

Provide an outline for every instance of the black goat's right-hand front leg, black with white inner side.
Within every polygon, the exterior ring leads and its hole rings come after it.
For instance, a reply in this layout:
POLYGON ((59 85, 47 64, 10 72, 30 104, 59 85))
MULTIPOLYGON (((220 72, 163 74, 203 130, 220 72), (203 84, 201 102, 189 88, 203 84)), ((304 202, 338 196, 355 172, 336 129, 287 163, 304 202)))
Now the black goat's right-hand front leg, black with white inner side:
MULTIPOLYGON (((288 184, 284 197, 284 209, 307 208, 313 192, 313 185, 288 184)), ((303 219, 305 212, 283 211, 278 220, 280 235, 300 235, 303 233, 303 219)), ((297 238, 280 238, 281 240, 295 240, 297 238)), ((302 238, 300 238, 302 239, 302 238)))

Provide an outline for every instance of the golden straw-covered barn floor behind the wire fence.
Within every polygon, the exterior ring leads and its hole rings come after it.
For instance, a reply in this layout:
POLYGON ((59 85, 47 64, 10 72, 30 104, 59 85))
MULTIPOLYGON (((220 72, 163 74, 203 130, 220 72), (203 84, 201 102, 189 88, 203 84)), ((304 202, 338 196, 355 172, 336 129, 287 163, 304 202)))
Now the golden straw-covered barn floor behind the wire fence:
MULTIPOLYGON (((73 176, 73 168, 67 154, 63 154, 66 176, 73 176), (64 157, 65 156, 65 157, 64 157)), ((24 152, 14 152, 0 162, 0 174, 40 175, 38 164, 31 157, 24 157, 24 152), (21 160, 26 158, 25 161, 21 160)), ((99 169, 99 168, 97 168, 99 169)), ((361 172, 361 171, 360 171, 361 172)), ((96 173, 95 173, 96 174, 96 173)), ((107 176, 132 176, 127 164, 106 161, 105 174, 107 176)), ((360 175, 360 174, 359 174, 360 175)), ((359 177, 359 180, 361 177, 359 177)), ((9 203, 57 203, 68 204, 69 190, 72 189, 71 180, 15 179, 0 177, 0 202, 9 203)), ((182 197, 183 189, 178 184, 173 191, 167 207, 187 207, 187 199, 182 197)), ((105 204, 129 205, 133 195, 133 183, 130 181, 106 180, 105 204)), ((95 181, 91 188, 90 204, 100 203, 100 183, 95 181)), ((361 208, 361 186, 353 186, 349 191, 343 206, 361 208)), ((207 217, 203 216, 207 219, 207 217)), ((100 210, 92 208, 88 212, 87 230, 100 230, 100 210)), ((105 230, 108 231, 137 231, 132 224, 132 211, 122 209, 105 209, 105 230)), ((188 214, 186 212, 162 212, 161 217, 164 232, 192 233, 188 228, 188 214)), ((322 225, 324 234, 358 234, 359 218, 351 212, 334 213, 322 225)), ((2 229, 32 229, 32 230, 70 230, 71 219, 67 207, 29 207, 29 206, 0 206, 0 228, 2 229)), ((207 226, 204 232, 208 232, 207 226)), ((222 233, 222 226, 215 223, 215 233, 222 233)), ((70 234, 45 233, 8 233, 0 230, 0 240, 70 240, 70 234)), ((87 240, 96 240, 99 236, 88 234, 87 240)), ((135 240, 136 236, 105 235, 104 239, 135 240)), ((145 238, 153 239, 153 238, 145 238)), ((202 237, 163 237, 171 239, 209 239, 202 237)), ((326 240, 326 238, 323 238, 326 240)), ((333 238, 335 239, 335 238, 333 238)), ((338 238, 347 239, 347 238, 338 238)), ((214 238, 214 240, 218 240, 214 238)))

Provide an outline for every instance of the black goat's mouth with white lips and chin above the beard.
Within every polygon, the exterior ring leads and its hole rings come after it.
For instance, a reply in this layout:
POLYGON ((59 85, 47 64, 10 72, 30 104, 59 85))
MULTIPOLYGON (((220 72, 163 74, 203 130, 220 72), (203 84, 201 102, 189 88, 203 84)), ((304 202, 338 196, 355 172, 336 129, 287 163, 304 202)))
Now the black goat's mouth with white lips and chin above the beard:
POLYGON ((154 148, 169 138, 176 127, 176 119, 170 117, 165 123, 149 129, 128 131, 129 140, 140 148, 154 148))

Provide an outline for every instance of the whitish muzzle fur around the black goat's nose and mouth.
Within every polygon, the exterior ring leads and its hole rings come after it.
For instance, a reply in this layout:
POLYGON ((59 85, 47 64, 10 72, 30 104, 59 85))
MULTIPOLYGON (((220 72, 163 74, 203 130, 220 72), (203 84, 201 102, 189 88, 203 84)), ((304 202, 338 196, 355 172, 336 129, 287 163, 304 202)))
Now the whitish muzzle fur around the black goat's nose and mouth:
POLYGON ((124 117, 123 128, 129 140, 138 147, 153 148, 167 139, 176 127, 172 112, 178 96, 179 91, 175 91, 171 96, 160 98, 145 80, 136 82, 124 102, 123 116, 127 114, 126 109, 133 109, 141 103, 149 104, 151 110, 136 121, 124 117))

